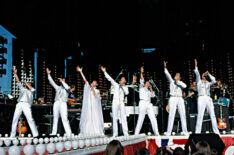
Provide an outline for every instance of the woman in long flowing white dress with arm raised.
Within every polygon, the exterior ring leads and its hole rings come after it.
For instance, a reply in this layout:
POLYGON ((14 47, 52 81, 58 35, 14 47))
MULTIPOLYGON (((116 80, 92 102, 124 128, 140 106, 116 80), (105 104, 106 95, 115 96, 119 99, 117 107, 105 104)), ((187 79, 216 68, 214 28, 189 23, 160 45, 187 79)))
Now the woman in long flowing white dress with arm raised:
POLYGON ((77 66, 76 70, 80 72, 85 82, 80 118, 80 135, 104 135, 100 91, 96 88, 98 83, 96 80, 93 80, 89 85, 82 72, 82 68, 77 66))

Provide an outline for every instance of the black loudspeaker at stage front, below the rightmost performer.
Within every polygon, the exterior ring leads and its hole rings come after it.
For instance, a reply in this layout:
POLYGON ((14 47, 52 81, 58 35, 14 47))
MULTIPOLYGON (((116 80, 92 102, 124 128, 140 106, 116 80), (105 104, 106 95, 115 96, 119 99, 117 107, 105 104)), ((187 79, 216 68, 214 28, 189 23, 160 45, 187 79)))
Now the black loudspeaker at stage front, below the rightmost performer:
POLYGON ((191 147, 192 152, 196 151, 196 144, 199 141, 206 141, 210 145, 210 148, 215 148, 219 154, 222 154, 223 150, 225 149, 225 145, 222 139, 217 134, 191 134, 189 139, 185 145, 185 151, 188 154, 189 150, 188 147, 191 147))

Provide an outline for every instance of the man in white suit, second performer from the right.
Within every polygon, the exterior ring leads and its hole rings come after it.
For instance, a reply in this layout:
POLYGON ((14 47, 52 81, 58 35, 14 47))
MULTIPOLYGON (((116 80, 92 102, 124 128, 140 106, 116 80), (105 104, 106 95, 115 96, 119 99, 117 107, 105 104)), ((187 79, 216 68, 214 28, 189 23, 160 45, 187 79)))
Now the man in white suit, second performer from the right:
POLYGON ((176 73, 174 79, 171 77, 170 73, 167 70, 167 63, 164 61, 164 72, 170 83, 170 99, 169 99, 169 117, 168 117, 168 126, 166 135, 171 135, 171 131, 174 125, 176 108, 178 107, 180 120, 182 125, 182 130, 184 135, 188 135, 187 123, 185 116, 185 106, 184 99, 182 97, 182 90, 187 87, 187 85, 180 81, 180 73, 176 73))

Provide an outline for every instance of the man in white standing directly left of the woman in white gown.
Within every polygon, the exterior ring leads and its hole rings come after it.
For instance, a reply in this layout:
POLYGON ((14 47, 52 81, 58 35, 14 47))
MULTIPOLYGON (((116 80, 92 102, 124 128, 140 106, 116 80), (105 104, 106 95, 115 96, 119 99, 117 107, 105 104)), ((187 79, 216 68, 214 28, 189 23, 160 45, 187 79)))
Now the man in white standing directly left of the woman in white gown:
POLYGON ((58 119, 59 115, 62 118, 63 126, 66 132, 66 135, 69 137, 71 136, 71 127, 69 125, 69 121, 67 118, 67 98, 68 93, 70 91, 70 87, 65 83, 65 78, 59 78, 59 81, 61 82, 61 86, 58 86, 54 80, 52 79, 50 75, 50 70, 46 68, 46 72, 48 74, 48 80, 52 87, 55 89, 55 99, 54 99, 54 106, 53 106, 53 129, 52 133, 50 135, 56 135, 57 134, 57 128, 58 128, 58 119))

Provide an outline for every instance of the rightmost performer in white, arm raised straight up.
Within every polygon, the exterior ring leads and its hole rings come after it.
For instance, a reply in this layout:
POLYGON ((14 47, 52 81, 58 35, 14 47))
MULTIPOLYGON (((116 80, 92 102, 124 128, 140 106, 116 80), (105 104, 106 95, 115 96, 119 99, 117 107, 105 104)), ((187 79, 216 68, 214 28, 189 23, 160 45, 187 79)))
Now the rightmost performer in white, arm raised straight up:
POLYGON ((204 112, 207 109, 210 114, 213 131, 216 134, 219 134, 219 129, 217 126, 217 121, 214 113, 213 101, 210 97, 210 86, 215 84, 215 77, 213 77, 208 71, 202 74, 202 79, 198 71, 197 60, 195 59, 195 74, 197 81, 197 91, 198 91, 198 115, 197 115, 197 124, 196 124, 196 133, 201 133, 202 120, 204 112), (211 82, 207 81, 207 76, 209 76, 211 82))

